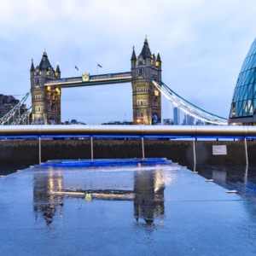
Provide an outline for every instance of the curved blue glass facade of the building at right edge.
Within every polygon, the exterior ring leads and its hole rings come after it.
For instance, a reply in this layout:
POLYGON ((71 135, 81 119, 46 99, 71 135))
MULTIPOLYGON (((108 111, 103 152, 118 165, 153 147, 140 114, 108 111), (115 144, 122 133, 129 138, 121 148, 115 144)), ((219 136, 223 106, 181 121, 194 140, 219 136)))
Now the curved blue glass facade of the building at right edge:
POLYGON ((243 61, 230 108, 230 119, 253 116, 256 110, 256 38, 243 61))

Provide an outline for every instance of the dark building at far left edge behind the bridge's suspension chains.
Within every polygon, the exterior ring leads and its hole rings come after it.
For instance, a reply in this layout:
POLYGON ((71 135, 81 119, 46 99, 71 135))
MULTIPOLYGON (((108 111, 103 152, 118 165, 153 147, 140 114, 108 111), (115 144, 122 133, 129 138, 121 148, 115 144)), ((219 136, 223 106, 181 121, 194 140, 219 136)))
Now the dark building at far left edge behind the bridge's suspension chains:
MULTIPOLYGON (((14 96, 7 96, 7 95, 3 95, 0 94, 0 118, 3 118, 3 116, 7 113, 9 113, 9 111, 12 108, 15 108, 15 106, 19 103, 20 101, 15 99, 14 96)), ((11 118, 9 120, 9 123, 13 122, 15 119, 19 118, 19 115, 21 115, 22 113, 26 112, 26 104, 22 104, 20 107, 20 111, 19 109, 17 109, 15 115, 13 118, 11 118)))

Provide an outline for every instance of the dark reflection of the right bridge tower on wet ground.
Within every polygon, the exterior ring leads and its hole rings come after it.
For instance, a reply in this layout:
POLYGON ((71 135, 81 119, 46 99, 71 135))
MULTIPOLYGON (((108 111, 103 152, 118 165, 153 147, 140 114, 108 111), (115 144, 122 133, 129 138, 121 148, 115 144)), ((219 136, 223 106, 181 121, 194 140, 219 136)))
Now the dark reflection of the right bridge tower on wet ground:
POLYGON ((164 189, 161 173, 135 172, 134 174, 134 215, 144 218, 147 224, 152 224, 154 218, 162 217, 164 208, 164 189))

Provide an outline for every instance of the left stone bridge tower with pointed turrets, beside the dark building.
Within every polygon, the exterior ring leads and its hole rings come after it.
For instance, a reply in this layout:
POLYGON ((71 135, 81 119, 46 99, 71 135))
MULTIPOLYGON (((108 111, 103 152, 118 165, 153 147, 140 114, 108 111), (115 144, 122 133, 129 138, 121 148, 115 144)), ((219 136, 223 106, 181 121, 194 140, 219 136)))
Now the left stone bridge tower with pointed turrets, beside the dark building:
POLYGON ((44 50, 39 66, 30 69, 32 95, 32 124, 61 125, 61 89, 46 87, 46 80, 61 79, 61 70, 57 63, 56 71, 51 67, 44 50))

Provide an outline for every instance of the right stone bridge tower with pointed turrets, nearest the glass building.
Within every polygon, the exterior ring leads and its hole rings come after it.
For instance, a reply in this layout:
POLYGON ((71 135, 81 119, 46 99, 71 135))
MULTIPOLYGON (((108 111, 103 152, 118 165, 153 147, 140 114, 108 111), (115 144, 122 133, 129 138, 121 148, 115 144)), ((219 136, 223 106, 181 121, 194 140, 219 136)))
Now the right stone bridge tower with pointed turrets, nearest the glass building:
POLYGON ((131 55, 131 86, 133 123, 138 125, 155 125, 161 122, 161 95, 152 84, 151 79, 161 81, 160 53, 151 54, 148 39, 145 38, 140 55, 136 56, 133 47, 131 55))

